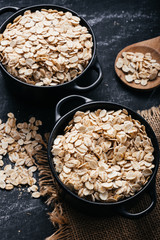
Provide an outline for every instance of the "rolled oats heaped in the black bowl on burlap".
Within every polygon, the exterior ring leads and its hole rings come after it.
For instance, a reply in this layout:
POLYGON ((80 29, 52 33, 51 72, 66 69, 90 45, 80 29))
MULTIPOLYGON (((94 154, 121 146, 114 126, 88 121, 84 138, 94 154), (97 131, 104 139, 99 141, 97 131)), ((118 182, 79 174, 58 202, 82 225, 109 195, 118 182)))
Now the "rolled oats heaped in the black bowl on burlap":
POLYGON ((75 113, 52 147, 60 180, 78 196, 114 202, 147 183, 154 148, 145 127, 123 110, 75 113))

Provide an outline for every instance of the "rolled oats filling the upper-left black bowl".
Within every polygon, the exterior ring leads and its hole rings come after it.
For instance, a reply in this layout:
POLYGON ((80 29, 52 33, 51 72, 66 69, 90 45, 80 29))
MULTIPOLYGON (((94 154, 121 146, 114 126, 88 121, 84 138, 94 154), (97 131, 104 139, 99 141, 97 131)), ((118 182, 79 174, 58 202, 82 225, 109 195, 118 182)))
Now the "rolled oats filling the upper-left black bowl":
POLYGON ((0 35, 2 64, 16 78, 55 86, 80 75, 92 57, 92 35, 71 12, 26 11, 0 35))

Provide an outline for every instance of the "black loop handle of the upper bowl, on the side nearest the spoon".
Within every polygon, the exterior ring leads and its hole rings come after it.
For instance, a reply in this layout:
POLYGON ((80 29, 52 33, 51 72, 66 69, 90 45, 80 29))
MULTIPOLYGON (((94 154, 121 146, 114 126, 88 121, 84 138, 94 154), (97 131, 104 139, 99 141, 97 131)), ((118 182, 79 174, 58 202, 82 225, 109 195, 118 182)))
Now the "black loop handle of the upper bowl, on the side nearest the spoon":
POLYGON ((78 91, 81 91, 81 92, 88 91, 88 90, 91 90, 92 88, 96 87, 101 82, 101 80, 102 80, 102 68, 99 64, 99 61, 98 61, 97 57, 96 57, 94 65, 91 66, 91 68, 89 70, 90 71, 94 70, 98 73, 98 77, 94 81, 94 83, 92 83, 91 85, 89 85, 87 87, 81 87, 75 82, 74 86, 73 86, 73 90, 78 90, 78 91))

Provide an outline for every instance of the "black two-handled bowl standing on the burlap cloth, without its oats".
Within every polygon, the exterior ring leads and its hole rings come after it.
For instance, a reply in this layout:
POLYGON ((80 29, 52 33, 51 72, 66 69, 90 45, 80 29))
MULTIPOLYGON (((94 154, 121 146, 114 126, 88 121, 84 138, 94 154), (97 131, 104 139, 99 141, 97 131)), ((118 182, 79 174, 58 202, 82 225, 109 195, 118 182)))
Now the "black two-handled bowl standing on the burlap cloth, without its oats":
POLYGON ((89 213, 102 213, 102 214, 108 214, 111 212, 118 212, 121 215, 128 217, 128 218, 138 218, 141 217, 148 212, 150 212, 155 204, 156 204, 156 188, 155 188, 155 182, 156 182, 156 174, 159 166, 159 146, 156 139, 156 136, 150 127, 150 125, 146 122, 144 118, 142 118, 139 114, 132 111, 131 109, 115 104, 115 103, 109 103, 105 101, 95 101, 93 102, 91 99, 88 99, 86 97, 80 96, 80 95, 71 95, 68 97, 63 98, 61 101, 58 102, 56 109, 55 109, 55 120, 56 124, 52 130, 52 133, 50 135, 49 143, 48 143, 48 161, 49 165, 52 171, 53 176, 55 177, 56 181, 60 185, 61 189, 63 190, 65 199, 68 200, 70 203, 72 203, 74 206, 80 208, 81 210, 85 210, 89 213), (66 112, 66 107, 70 105, 73 106, 73 103, 78 102, 79 107, 74 108, 73 110, 68 111, 64 116, 61 114, 61 112, 66 112), (128 111, 128 114, 132 116, 133 119, 137 119, 140 121, 146 128, 146 132, 148 137, 151 138, 153 147, 154 147, 154 161, 153 164, 155 165, 155 168, 153 169, 153 173, 151 177, 149 178, 149 181, 145 184, 145 186, 138 191, 134 196, 124 198, 120 201, 113 202, 113 203, 101 203, 101 202, 92 202, 88 201, 86 199, 80 198, 77 194, 70 191, 69 188, 67 188, 59 179, 58 174, 55 170, 54 163, 53 163, 53 155, 51 153, 52 145, 54 142, 54 139, 59 134, 64 134, 64 129, 68 122, 73 119, 74 114, 77 111, 95 111, 97 109, 106 109, 106 110, 119 110, 125 108, 128 111), (139 200, 139 198, 142 196, 142 194, 148 193, 151 198, 151 204, 147 209, 137 212, 137 213, 131 213, 128 210, 126 210, 128 207, 131 207, 132 205, 136 204, 139 200))

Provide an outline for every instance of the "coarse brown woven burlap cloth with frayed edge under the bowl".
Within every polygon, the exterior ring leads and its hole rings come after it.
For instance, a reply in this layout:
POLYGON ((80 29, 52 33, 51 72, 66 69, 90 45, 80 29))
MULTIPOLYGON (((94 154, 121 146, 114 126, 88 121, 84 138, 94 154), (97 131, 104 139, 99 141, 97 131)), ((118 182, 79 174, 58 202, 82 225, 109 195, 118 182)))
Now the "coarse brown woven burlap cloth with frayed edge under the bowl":
MULTIPOLYGON (((160 106, 138 111, 152 126, 160 146, 160 106)), ((57 229, 46 240, 149 240, 160 239, 160 169, 157 174, 157 204, 154 210, 140 219, 119 216, 93 217, 73 209, 59 196, 58 186, 52 178, 46 152, 37 155, 40 171, 40 191, 51 206, 50 220, 57 229)), ((142 196, 136 210, 149 205, 147 196, 142 196)))

